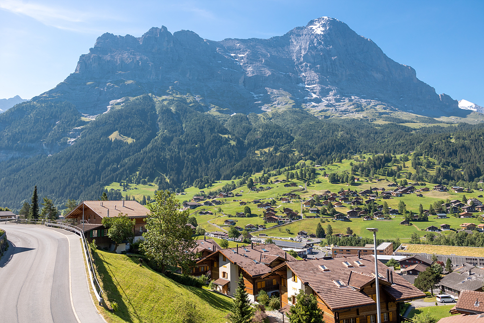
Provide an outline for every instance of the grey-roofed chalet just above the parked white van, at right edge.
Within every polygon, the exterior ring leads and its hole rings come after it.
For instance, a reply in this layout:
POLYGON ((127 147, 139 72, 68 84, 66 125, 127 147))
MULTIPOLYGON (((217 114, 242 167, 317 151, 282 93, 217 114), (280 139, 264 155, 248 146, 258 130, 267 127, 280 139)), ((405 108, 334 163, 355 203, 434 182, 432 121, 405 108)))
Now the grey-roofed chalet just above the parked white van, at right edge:
POLYGON ((473 265, 464 264, 442 277, 440 280, 440 287, 444 293, 460 297, 460 292, 462 290, 482 290, 483 282, 483 269, 474 267, 473 265))

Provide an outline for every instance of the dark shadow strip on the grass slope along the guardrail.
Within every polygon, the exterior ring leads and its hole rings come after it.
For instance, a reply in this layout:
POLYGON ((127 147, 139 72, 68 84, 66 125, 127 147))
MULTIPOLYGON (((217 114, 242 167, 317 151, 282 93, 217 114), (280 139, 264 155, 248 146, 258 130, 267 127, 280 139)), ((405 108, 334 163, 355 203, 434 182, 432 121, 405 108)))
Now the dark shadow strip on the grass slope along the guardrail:
POLYGON ((93 252, 93 257, 97 266, 98 274, 101 277, 101 280, 103 283, 103 288, 104 288, 103 298, 108 299, 110 302, 115 301, 118 304, 118 310, 116 310, 114 313, 127 322, 133 322, 129 314, 128 306, 123 301, 122 294, 124 294, 124 297, 128 300, 129 306, 131 307, 132 311, 135 313, 138 320, 142 321, 135 307, 129 300, 128 295, 123 290, 123 287, 121 287, 116 277, 114 276, 114 273, 109 268, 110 263, 102 255, 99 255, 97 252, 93 252), (118 286, 119 286, 119 289, 118 289, 118 286))

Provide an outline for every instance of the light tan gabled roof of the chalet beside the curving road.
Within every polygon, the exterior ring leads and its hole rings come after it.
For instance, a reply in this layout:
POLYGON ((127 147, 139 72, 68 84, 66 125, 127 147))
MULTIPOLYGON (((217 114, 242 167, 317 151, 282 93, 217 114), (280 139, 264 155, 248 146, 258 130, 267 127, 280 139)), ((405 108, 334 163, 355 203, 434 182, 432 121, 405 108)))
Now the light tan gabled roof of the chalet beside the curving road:
POLYGON ((101 218, 107 217, 108 213, 110 217, 117 217, 122 213, 130 219, 146 218, 150 213, 147 208, 136 201, 84 201, 69 212, 66 219, 77 218, 82 215, 83 205, 101 218))

